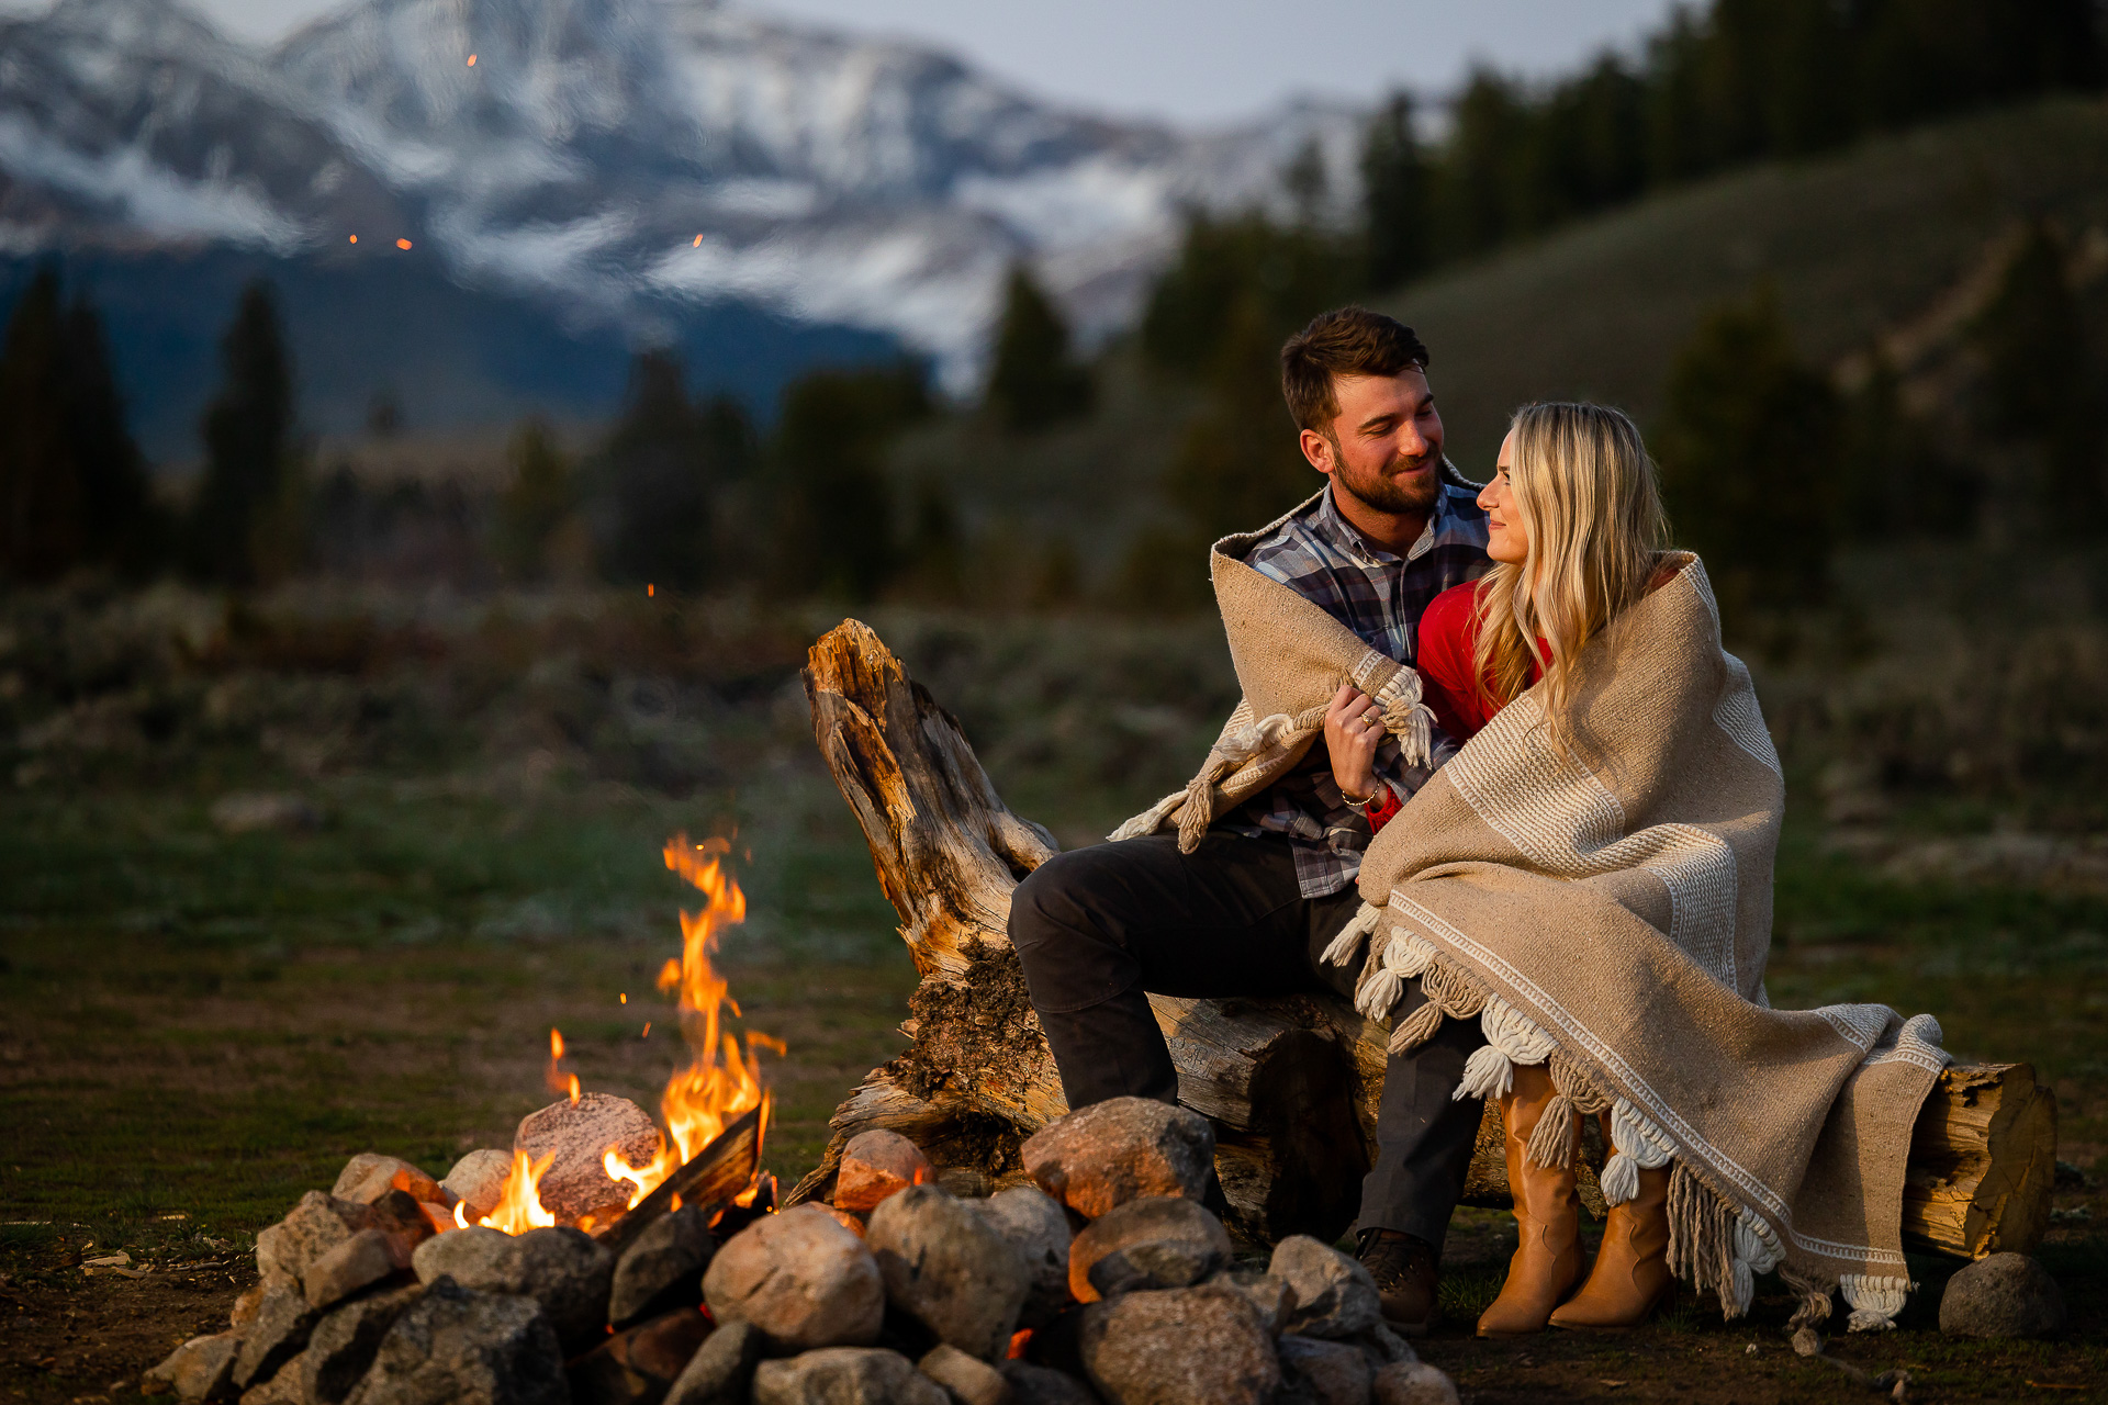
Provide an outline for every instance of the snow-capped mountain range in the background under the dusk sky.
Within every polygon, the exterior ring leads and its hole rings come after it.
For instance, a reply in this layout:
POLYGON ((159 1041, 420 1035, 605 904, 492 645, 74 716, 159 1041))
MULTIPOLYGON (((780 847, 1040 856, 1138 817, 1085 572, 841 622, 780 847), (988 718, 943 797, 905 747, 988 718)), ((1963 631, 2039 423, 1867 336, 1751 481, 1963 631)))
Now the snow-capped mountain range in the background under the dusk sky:
POLYGON ((179 0, 61 0, 0 23, 0 246, 405 236, 571 320, 651 337, 744 301, 894 333, 963 388, 1014 259, 1117 326, 1183 206, 1280 200, 1313 137, 1351 194, 1358 128, 1109 122, 708 0, 358 0, 268 55, 179 0))

